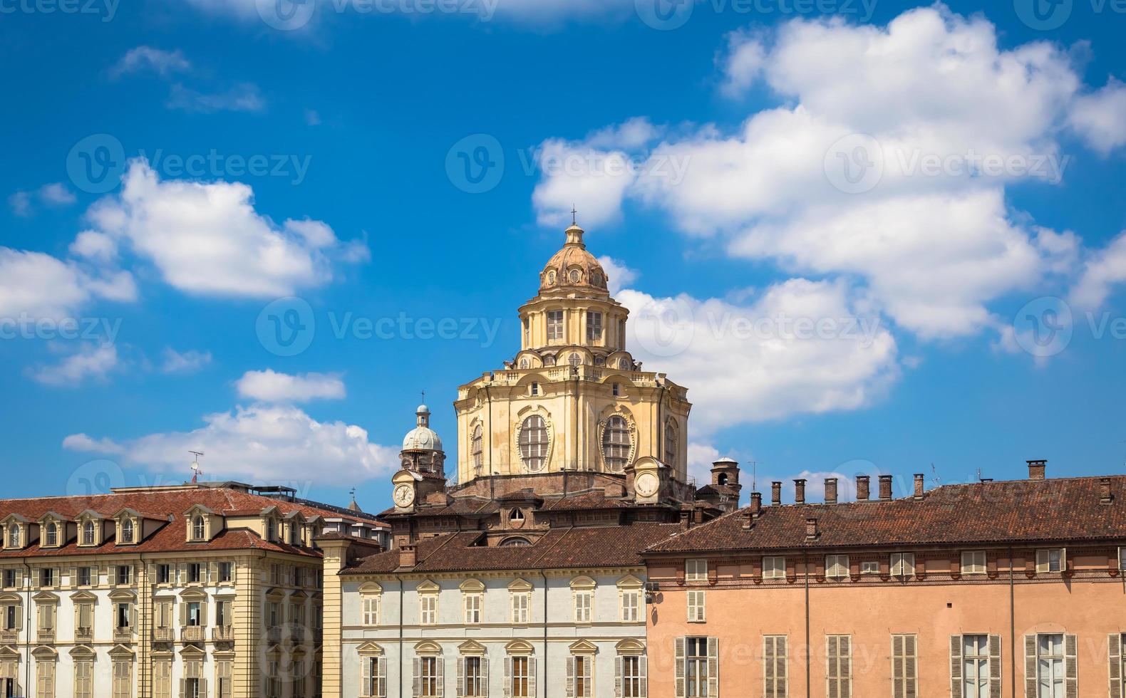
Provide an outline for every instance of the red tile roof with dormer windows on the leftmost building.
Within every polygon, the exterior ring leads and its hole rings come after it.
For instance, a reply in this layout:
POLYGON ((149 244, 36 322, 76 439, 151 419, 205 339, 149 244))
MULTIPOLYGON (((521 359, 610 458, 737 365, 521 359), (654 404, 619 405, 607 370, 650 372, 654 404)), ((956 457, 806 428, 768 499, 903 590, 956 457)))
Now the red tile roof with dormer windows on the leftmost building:
MULTIPOLYGON (((242 528, 224 530, 207 543, 189 543, 186 540, 187 527, 184 520, 184 512, 194 504, 202 504, 223 516, 247 512, 257 513, 267 507, 274 505, 278 508, 283 516, 300 511, 305 517, 320 514, 322 517, 331 516, 341 518, 339 512, 319 509, 306 502, 287 502, 230 487, 195 487, 148 492, 132 491, 91 496, 43 496, 0 500, 0 519, 16 513, 25 519, 38 521, 43 514, 51 511, 70 520, 87 510, 96 511, 108 518, 122 509, 128 508, 149 512, 145 514, 146 518, 169 521, 135 545, 117 545, 113 537, 109 537, 100 546, 93 548, 87 546, 79 547, 77 540, 70 540, 66 545, 59 548, 42 548, 39 547, 39 543, 35 543, 19 551, 0 551, 0 561, 35 556, 89 555, 91 553, 108 555, 115 553, 173 553, 199 549, 226 551, 245 548, 320 556, 320 552, 318 551, 291 546, 284 543, 267 542, 257 534, 242 528)), ((361 519, 355 516, 343 518, 363 520, 368 524, 373 522, 367 518, 361 519)))

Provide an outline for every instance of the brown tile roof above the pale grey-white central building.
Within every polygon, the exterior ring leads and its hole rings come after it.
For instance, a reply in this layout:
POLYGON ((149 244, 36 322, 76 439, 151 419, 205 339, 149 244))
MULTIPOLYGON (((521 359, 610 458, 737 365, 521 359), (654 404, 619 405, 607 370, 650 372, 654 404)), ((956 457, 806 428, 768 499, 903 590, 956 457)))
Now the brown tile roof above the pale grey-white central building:
MULTIPOLYGON (((642 564, 640 551, 679 530, 676 524, 634 524, 553 528, 530 546, 474 545, 482 531, 446 534, 420 540, 418 572, 474 572, 486 570, 560 570, 625 567, 642 564)), ((513 534, 519 535, 519 534, 513 534)), ((364 557, 342 574, 378 574, 399 570, 399 551, 364 557)))

